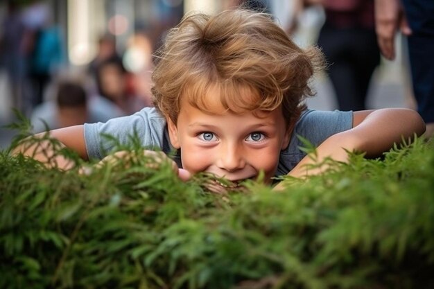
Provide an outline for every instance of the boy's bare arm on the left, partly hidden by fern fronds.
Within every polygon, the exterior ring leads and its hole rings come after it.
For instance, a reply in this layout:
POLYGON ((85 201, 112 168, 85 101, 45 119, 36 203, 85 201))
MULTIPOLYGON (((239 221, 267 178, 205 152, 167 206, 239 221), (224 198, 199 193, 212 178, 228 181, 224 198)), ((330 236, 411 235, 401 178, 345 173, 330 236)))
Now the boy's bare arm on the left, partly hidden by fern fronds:
MULTIPOLYGON (((61 146, 71 148, 75 150, 80 157, 87 159, 87 151, 85 146, 85 137, 83 135, 83 125, 75 125, 69 128, 60 128, 58 130, 51 130, 50 137, 58 139, 61 146)), ((45 133, 35 134, 35 137, 42 137, 45 133)), ((47 166, 56 166, 61 169, 69 169, 73 164, 68 159, 65 159, 61 155, 53 157, 53 146, 49 141, 41 141, 40 143, 34 143, 32 146, 28 146, 28 143, 24 140, 17 148, 15 148, 15 154, 22 152, 24 155, 33 157, 38 161, 46 163, 47 166)))

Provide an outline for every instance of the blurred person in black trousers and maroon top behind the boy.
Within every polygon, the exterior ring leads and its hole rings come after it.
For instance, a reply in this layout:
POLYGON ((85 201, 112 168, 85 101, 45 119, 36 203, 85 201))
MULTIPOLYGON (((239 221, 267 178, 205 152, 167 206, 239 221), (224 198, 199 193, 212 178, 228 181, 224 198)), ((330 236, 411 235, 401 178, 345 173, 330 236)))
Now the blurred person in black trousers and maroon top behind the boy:
MULTIPOLYGON (((380 63, 374 0, 297 1, 298 13, 303 6, 320 5, 324 9, 318 46, 329 63, 328 76, 339 110, 365 110, 370 80, 380 63)), ((293 32, 294 27, 288 30, 293 32)))

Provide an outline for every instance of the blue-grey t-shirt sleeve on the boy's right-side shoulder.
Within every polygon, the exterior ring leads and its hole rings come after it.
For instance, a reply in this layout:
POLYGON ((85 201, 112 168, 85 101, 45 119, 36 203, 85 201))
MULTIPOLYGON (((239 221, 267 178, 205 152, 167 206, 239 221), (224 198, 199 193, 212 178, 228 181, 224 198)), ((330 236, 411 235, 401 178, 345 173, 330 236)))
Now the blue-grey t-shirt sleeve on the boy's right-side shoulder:
POLYGON ((288 148, 281 151, 277 175, 286 175, 306 153, 300 150, 304 144, 299 136, 318 147, 333 134, 344 132, 353 127, 353 112, 306 110, 300 116, 290 139, 288 148))

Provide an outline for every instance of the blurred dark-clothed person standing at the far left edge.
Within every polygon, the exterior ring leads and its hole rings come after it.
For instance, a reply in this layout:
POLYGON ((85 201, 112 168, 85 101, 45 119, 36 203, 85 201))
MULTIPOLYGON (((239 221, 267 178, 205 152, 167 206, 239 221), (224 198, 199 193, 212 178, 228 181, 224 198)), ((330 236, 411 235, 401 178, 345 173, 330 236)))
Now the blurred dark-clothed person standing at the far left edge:
POLYGON ((12 107, 25 114, 28 106, 23 93, 26 75, 24 61, 26 27, 17 1, 9 0, 6 6, 7 15, 1 23, 0 63, 3 64, 8 76, 12 107))

